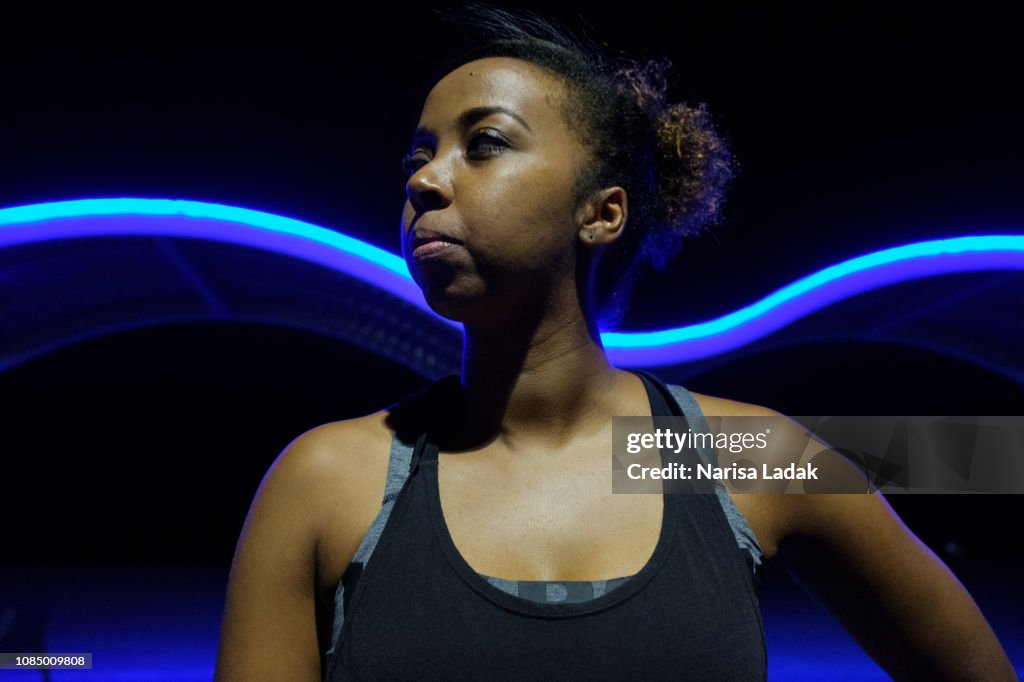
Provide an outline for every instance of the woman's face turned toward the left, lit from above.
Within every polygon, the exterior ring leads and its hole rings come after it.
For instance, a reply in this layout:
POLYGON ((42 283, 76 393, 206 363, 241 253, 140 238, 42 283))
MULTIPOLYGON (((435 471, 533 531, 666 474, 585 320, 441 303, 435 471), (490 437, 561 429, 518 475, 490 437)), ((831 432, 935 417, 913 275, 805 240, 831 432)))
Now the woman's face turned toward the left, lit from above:
POLYGON ((509 57, 466 63, 427 96, 409 157, 402 254, 440 314, 521 312, 559 279, 572 283, 572 183, 586 153, 563 96, 557 77, 509 57), (455 244, 417 249, 438 237, 455 244))

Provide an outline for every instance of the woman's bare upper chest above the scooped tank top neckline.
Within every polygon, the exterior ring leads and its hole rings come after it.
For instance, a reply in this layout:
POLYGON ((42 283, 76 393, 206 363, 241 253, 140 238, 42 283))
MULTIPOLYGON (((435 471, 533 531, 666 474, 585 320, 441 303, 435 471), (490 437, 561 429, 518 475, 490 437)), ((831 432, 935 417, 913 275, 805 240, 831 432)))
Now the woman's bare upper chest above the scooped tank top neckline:
POLYGON ((444 526, 476 572, 596 581, 638 572, 663 524, 658 495, 613 495, 608 447, 554 457, 441 454, 444 526))

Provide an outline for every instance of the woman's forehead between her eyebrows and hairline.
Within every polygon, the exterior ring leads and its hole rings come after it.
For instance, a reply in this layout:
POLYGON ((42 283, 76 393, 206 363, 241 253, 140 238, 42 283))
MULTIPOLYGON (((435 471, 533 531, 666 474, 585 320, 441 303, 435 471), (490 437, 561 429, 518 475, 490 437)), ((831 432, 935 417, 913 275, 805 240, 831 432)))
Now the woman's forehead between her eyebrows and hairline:
POLYGON ((504 106, 540 126, 562 123, 565 86, 550 72, 522 59, 487 57, 469 61, 437 82, 423 104, 420 124, 439 129, 477 106, 504 106))

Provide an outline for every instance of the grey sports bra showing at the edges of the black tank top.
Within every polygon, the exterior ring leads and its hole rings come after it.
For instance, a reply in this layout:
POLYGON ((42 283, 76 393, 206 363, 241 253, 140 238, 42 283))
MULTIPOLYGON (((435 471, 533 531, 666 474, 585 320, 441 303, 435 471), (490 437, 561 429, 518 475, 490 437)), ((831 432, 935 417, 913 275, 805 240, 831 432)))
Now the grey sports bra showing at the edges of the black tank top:
MULTIPOLYGON (((707 433, 708 422, 705 421, 696 398, 682 386, 676 384, 666 384, 666 386, 668 386, 676 401, 679 402, 680 409, 689 422, 690 429, 694 433, 707 433)), ((370 529, 367 530, 367 535, 364 536, 358 549, 355 550, 352 563, 366 565, 370 560, 370 555, 373 554, 374 548, 377 547, 377 542, 380 540, 381 534, 384 531, 384 526, 387 524, 387 519, 391 515, 394 501, 398 497, 398 493, 401 492, 406 479, 409 477, 409 466, 413 459, 415 446, 415 441, 404 441, 397 433, 392 432, 391 453, 387 467, 387 482, 384 485, 384 500, 380 511, 377 512, 373 523, 370 524, 370 529)), ((713 449, 707 449, 698 444, 697 454, 706 463, 718 465, 718 453, 713 449)), ((725 484, 720 480, 715 481, 715 493, 722 504, 722 510, 729 521, 729 526, 732 528, 732 535, 735 537, 739 547, 750 553, 754 572, 757 573, 764 556, 761 546, 758 544, 750 523, 746 522, 746 519, 740 513, 732 498, 729 497, 725 484)), ((625 583, 631 576, 603 581, 510 581, 493 576, 483 576, 483 578, 495 587, 513 596, 542 602, 575 602, 596 599, 625 583)), ((334 653, 334 647, 338 643, 338 635, 341 633, 341 628, 344 624, 344 595, 345 587, 342 581, 338 581, 338 588, 334 594, 334 624, 331 630, 329 655, 334 653)))

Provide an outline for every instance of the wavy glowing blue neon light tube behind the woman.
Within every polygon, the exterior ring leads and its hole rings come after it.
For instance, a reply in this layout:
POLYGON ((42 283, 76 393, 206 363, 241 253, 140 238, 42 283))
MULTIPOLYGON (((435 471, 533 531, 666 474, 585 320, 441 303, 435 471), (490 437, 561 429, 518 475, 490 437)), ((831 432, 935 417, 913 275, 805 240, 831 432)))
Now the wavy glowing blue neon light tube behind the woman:
MULTIPOLYGON (((168 199, 88 199, 0 210, 0 248, 119 235, 187 237, 267 249, 358 276, 430 311, 400 256, 293 218, 168 199)), ((682 363, 737 348, 831 303, 889 284, 1005 268, 1024 269, 1024 235, 919 242, 837 263, 715 319, 651 332, 605 332, 601 340, 618 366, 682 363)))

